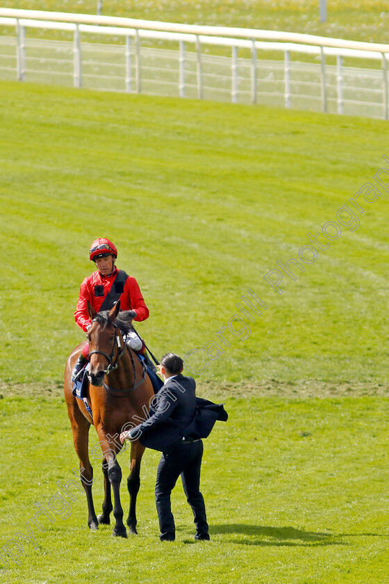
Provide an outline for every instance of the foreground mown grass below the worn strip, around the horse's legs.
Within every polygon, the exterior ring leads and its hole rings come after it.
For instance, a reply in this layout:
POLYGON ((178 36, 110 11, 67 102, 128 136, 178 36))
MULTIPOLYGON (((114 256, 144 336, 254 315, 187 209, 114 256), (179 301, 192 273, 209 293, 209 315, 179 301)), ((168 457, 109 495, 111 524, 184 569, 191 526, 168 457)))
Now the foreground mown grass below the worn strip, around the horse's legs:
MULTIPOLYGON (((154 505, 159 454, 147 451, 138 537, 113 538, 112 526, 90 533, 83 493, 74 487, 74 499, 65 496, 63 516, 56 515, 53 524, 43 517, 43 533, 32 525, 38 549, 24 541, 19 565, 9 558, 3 581, 386 583, 388 398, 219 397, 226 398, 230 419, 218 423, 205 441, 202 491, 209 543, 193 540, 181 484, 172 496, 176 542, 159 542, 154 505)), ((56 482, 70 480, 78 461, 58 395, 5 395, 0 415, 1 472, 7 477, 0 492, 3 548, 15 533, 26 533, 36 502, 49 510, 59 492, 56 482)), ((91 437, 92 446, 97 442, 93 430, 91 437)), ((125 477, 128 455, 120 455, 119 462, 125 477)), ((99 462, 94 469, 99 510, 99 462)), ((125 480, 122 501, 126 512, 125 480)), ((63 503, 57 498, 52 505, 60 510, 63 503)), ((19 555, 15 544, 10 551, 19 555)))

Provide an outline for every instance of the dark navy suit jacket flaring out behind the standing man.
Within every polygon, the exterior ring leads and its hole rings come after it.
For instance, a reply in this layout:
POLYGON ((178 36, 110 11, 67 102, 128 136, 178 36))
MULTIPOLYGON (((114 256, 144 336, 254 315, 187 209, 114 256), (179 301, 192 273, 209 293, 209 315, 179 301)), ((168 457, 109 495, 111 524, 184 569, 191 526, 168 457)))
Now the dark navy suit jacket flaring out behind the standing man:
POLYGON ((222 405, 196 398, 195 390, 193 378, 168 378, 153 400, 151 416, 133 428, 131 436, 158 451, 167 451, 183 438, 206 438, 215 421, 226 421, 228 415, 222 405))

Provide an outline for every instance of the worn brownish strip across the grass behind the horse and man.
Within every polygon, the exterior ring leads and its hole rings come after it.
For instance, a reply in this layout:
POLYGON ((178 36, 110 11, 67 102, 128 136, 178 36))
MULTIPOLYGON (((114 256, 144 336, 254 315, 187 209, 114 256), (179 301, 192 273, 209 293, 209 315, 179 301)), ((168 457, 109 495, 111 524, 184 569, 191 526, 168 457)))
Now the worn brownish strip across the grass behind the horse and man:
MULTIPOLYGON (((231 383, 197 381, 197 394, 209 399, 227 399, 249 396, 276 396, 292 398, 329 398, 389 396, 389 387, 381 382, 324 382, 302 380, 283 382, 275 379, 256 383, 231 383)), ((58 383, 0 383, 0 396, 63 397, 63 385, 58 383)))

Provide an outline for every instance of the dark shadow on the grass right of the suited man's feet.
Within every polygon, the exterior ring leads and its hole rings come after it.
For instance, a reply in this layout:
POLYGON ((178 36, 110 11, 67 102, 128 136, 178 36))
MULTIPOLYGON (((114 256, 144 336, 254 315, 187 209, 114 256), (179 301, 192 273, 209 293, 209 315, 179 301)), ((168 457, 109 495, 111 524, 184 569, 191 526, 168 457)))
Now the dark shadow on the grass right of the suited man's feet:
POLYGON ((248 546, 332 546, 348 545, 337 535, 327 531, 304 531, 294 527, 270 527, 248 524, 210 526, 210 535, 234 535, 234 542, 248 546))

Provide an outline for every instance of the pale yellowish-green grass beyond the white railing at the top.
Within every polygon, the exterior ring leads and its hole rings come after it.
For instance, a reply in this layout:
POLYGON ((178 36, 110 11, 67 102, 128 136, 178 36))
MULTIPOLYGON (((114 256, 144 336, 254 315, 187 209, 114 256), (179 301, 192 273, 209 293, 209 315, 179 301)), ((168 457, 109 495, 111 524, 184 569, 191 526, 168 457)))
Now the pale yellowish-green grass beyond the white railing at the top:
MULTIPOLYGON (((58 0, 6 0, 2 6, 85 14, 97 12, 97 0, 67 0, 66 3, 58 0)), ((103 0, 103 14, 389 42, 386 1, 329 0, 325 23, 320 22, 319 6, 319 0, 103 0)))

